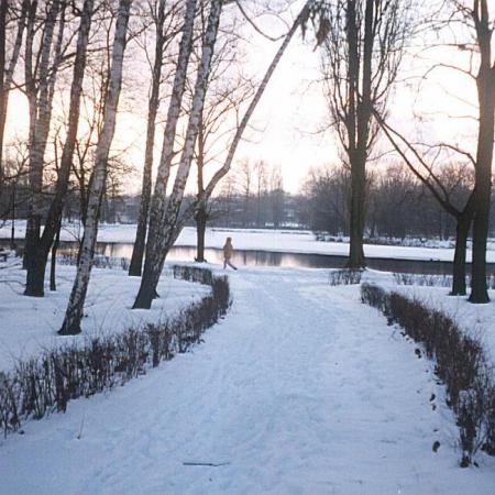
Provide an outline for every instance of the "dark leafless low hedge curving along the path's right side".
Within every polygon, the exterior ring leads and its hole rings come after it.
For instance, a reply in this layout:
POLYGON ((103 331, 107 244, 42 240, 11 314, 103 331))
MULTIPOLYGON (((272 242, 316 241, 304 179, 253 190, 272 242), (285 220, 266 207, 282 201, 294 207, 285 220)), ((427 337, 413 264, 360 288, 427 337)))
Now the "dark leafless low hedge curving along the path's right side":
POLYGON ((457 416, 461 465, 469 465, 480 448, 495 454, 495 382, 480 341, 441 311, 400 294, 363 284, 361 300, 381 310, 389 324, 399 324, 436 359, 436 374, 444 382, 457 416))

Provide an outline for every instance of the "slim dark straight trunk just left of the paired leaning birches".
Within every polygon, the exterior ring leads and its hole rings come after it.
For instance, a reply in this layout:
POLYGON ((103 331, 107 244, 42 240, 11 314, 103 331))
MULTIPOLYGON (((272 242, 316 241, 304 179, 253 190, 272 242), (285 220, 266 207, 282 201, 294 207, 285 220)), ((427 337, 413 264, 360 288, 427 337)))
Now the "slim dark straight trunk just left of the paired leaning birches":
POLYGON ((134 248, 132 250, 130 276, 141 276, 143 266, 144 246, 146 242, 147 218, 150 213, 150 200, 152 193, 153 148, 155 145, 156 113, 160 106, 160 82, 162 78, 163 51, 164 51, 164 22, 165 0, 160 0, 158 16, 156 20, 155 61, 153 63, 152 90, 147 107, 146 148, 144 151, 143 185, 141 189, 141 204, 138 217, 138 230, 134 248))

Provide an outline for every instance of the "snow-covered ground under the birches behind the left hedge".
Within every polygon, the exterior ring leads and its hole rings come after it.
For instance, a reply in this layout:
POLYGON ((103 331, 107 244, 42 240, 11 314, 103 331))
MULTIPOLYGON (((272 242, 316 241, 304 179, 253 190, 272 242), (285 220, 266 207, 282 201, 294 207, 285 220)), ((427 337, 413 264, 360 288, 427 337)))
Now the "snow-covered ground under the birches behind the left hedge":
POLYGON ((209 292, 209 287, 176 280, 165 270, 158 284, 161 298, 153 308, 131 310, 140 278, 129 277, 123 270, 95 268, 85 306, 84 333, 63 338, 56 332, 64 319, 75 274, 75 266, 57 266, 57 292, 45 287, 44 298, 24 297, 25 272, 21 262, 10 258, 8 264, 0 263, 0 371, 44 348, 165 319, 209 292))

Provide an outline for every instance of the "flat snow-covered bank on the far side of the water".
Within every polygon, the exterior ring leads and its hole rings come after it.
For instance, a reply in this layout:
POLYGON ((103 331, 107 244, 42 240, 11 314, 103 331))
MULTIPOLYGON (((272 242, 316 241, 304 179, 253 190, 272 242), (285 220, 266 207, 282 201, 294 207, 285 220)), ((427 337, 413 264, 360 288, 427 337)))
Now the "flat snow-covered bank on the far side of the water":
MULTIPOLYGON (((16 222, 16 237, 24 238, 25 222, 16 222)), ((67 227, 62 232, 62 239, 74 241, 80 235, 77 227, 67 227)), ((6 223, 0 228, 0 238, 10 237, 10 226, 6 223)), ((256 229, 207 229, 206 246, 221 248, 226 238, 231 237, 233 245, 238 250, 263 250, 293 253, 334 254, 346 255, 349 244, 343 242, 316 241, 310 231, 294 230, 256 230, 256 229)), ((100 242, 133 243, 135 239, 135 226, 132 224, 103 224, 98 231, 100 242)), ((185 228, 177 239, 176 245, 196 245, 196 230, 185 228)), ((491 244, 493 246, 493 243, 491 244)), ((364 246, 369 257, 388 257, 403 260, 436 260, 452 261, 453 249, 446 248, 406 248, 394 245, 364 246)), ((471 251, 468 252, 471 260, 471 251)), ((495 263, 495 250, 487 251, 487 261, 495 263)))

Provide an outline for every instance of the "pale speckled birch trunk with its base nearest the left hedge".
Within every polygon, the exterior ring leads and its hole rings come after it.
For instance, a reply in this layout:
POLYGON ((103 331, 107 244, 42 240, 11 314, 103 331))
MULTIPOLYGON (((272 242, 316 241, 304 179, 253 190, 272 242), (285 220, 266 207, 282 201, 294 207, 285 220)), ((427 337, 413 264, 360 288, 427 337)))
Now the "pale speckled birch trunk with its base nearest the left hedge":
POLYGON ((101 197, 107 177, 108 155, 116 130, 116 118, 122 85, 123 56, 131 6, 132 0, 120 0, 119 2, 109 85, 105 102, 103 128, 95 152, 95 174, 89 189, 85 233, 80 246, 80 257, 77 265, 76 279, 74 280, 64 322, 58 331, 62 336, 80 332, 80 320, 82 318, 86 294, 88 292, 89 277, 95 255, 95 244, 98 234, 101 197))

